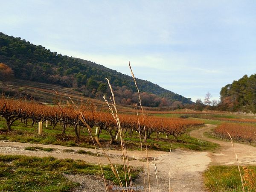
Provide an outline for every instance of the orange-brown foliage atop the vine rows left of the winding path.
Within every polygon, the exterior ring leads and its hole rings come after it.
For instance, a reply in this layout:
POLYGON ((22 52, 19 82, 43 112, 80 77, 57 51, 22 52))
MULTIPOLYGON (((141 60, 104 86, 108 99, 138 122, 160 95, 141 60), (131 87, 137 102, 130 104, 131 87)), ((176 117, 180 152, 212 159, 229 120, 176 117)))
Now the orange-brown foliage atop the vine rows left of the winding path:
MULTIPOLYGON (((107 131, 117 130, 116 122, 111 113, 96 111, 96 109, 90 105, 81 104, 79 105, 80 111, 82 112, 86 122, 91 126, 99 126, 107 131)), ((76 129, 77 125, 84 126, 77 113, 70 106, 46 106, 40 105, 35 102, 24 102, 10 99, 0 99, 0 115, 9 114, 15 115, 21 119, 33 119, 33 121, 45 121, 49 120, 53 122, 54 126, 58 122, 64 124, 73 125, 76 129), (19 112, 19 114, 18 114, 19 112)), ((119 119, 122 128, 133 128, 138 130, 137 116, 133 114, 120 114, 119 119)), ((140 125, 143 125, 141 116, 140 125)), ((166 118, 157 116, 145 116, 145 128, 147 134, 150 135, 152 132, 165 132, 168 135, 177 137, 186 131, 186 128, 195 125, 202 125, 200 121, 189 120, 189 119, 178 119, 178 118, 166 118)), ((142 126, 141 126, 142 127, 142 126)), ((112 133, 110 133, 112 134, 112 133)))

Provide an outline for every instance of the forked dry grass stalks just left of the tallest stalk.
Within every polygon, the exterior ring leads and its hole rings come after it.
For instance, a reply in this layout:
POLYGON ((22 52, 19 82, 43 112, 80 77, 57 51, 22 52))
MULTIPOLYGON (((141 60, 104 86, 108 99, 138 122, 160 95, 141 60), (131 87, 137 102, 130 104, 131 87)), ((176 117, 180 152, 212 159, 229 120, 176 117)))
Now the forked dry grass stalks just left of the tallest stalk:
POLYGON ((126 179, 126 167, 125 167, 125 166, 127 166, 127 171, 128 171, 128 177, 129 177, 129 181, 130 181, 130 186, 131 186, 131 190, 133 191, 132 179, 131 179, 131 172, 130 172, 130 166, 129 166, 129 160, 128 160, 128 154, 127 154, 127 150, 126 150, 126 147, 125 147, 125 142, 124 142, 124 138, 123 138, 122 127, 121 127, 120 120, 119 120, 119 117, 118 117, 118 112, 117 112, 117 108, 116 108, 115 96, 114 96, 113 89, 112 89, 112 86, 111 86, 109 80, 108 80, 107 78, 105 78, 105 79, 108 81, 108 86, 109 86, 109 88, 110 88, 110 90, 111 90, 112 97, 110 97, 110 99, 111 99, 113 108, 109 105, 108 100, 105 98, 105 96, 103 96, 103 98, 104 98, 105 102, 107 103, 108 108, 109 108, 109 110, 111 111, 111 114, 112 114, 113 118, 114 118, 115 121, 116 121, 116 125, 117 125, 117 128, 118 128, 117 134, 120 134, 120 143, 121 143, 121 147, 122 147, 122 155, 123 155, 123 165, 124 165, 124 172, 125 172, 125 183, 126 183, 126 187, 128 187, 128 183, 127 183, 127 179, 126 179), (114 110, 113 110, 113 109, 114 109, 114 110))

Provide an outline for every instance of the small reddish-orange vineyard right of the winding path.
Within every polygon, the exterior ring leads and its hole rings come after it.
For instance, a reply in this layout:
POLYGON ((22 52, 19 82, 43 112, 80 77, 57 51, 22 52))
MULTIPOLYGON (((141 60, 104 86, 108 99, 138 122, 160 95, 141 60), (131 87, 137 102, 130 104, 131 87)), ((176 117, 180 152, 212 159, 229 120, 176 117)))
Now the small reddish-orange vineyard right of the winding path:
POLYGON ((229 135, 239 142, 256 143, 256 126, 234 123, 224 123, 214 129, 216 137, 229 139, 229 135))

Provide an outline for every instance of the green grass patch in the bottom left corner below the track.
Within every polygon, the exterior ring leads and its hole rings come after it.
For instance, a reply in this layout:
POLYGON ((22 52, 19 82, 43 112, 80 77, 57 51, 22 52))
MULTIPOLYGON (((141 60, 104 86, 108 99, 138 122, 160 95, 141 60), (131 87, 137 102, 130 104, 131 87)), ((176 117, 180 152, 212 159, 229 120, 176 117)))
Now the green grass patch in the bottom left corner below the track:
MULTIPOLYGON (((110 166, 103 166, 106 179, 118 184, 110 166)), ((123 166, 117 166, 119 176, 125 183, 123 166)), ((131 169, 134 179, 140 170, 131 169)), ((100 167, 71 159, 58 160, 53 157, 26 157, 0 155, 0 191, 56 191, 67 192, 78 186, 62 174, 84 174, 101 177, 100 167)), ((128 179, 129 180, 129 179, 128 179)))

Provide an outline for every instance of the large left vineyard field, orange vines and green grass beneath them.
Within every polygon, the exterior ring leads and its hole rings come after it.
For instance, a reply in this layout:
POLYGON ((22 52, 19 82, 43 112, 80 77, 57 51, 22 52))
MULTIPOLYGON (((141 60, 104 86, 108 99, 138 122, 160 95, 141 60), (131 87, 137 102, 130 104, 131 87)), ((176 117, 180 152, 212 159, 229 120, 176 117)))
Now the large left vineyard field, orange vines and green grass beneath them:
MULTIPOLYGON (((1 114, 5 119, 5 122, 1 121, 1 126, 4 128, 4 124, 7 124, 9 130, 7 134, 1 135, 1 140, 93 147, 90 134, 94 134, 98 127, 99 131, 96 136, 101 140, 103 146, 119 147, 115 139, 118 135, 118 128, 112 115, 96 111, 91 105, 80 106, 83 111, 82 115, 90 125, 91 131, 88 131, 83 123, 80 113, 72 112, 73 108, 70 106, 46 106, 33 102, 5 99, 0 100, 0 106, 2 106, 1 114), (84 110, 85 108, 86 110, 84 110), (35 130, 40 119, 49 121, 49 127, 44 129, 43 135, 38 135, 37 130, 35 130), (20 121, 23 123, 20 124, 20 121), (12 125, 16 125, 17 128, 12 125)), ((144 131, 142 126, 138 128, 138 123, 143 125, 141 116, 121 114, 119 118, 124 140, 130 149, 140 149, 140 139, 145 138, 145 135, 148 148, 156 150, 169 151, 171 143, 174 143, 173 148, 206 150, 212 147, 210 143, 198 142, 189 137, 188 131, 190 129, 203 125, 203 122, 198 120, 144 116, 144 131)))

